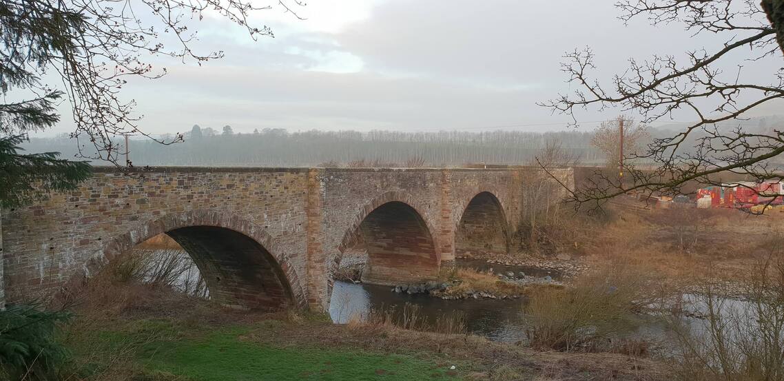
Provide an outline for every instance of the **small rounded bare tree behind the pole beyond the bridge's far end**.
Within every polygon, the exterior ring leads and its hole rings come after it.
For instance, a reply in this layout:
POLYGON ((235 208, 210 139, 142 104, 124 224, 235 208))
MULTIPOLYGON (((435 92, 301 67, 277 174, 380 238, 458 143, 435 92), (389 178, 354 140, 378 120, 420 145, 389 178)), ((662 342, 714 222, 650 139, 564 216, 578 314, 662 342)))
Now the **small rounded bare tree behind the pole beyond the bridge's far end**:
POLYGON ((648 126, 634 122, 633 118, 620 115, 618 118, 602 122, 593 131, 590 143, 597 147, 607 158, 609 168, 619 168, 620 157, 620 121, 623 121, 623 154, 636 157, 641 153, 643 144, 650 137, 648 126))

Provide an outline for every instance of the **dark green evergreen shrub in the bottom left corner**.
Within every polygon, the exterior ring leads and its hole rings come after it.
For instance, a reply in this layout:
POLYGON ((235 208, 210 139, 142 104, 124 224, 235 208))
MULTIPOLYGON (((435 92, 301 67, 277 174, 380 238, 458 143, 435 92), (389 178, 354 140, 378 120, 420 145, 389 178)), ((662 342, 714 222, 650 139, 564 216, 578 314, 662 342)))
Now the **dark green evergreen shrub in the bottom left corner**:
POLYGON ((37 305, 16 305, 0 310, 0 378, 58 379, 58 366, 67 351, 54 335, 71 318, 64 311, 46 311, 37 305))

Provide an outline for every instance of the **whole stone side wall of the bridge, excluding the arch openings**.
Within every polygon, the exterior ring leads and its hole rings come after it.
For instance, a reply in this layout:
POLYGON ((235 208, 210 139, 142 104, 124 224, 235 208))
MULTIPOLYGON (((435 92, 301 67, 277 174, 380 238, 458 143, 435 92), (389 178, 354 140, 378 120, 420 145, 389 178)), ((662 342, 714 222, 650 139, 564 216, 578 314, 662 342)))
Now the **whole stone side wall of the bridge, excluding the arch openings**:
MULTIPOLYGON (((432 246, 425 249, 434 250, 440 264, 454 259, 458 224, 481 192, 497 198, 514 232, 524 208, 521 184, 532 173, 540 172, 156 168, 137 179, 97 169, 76 191, 2 211, 3 284, 10 301, 51 295, 156 234, 221 227, 269 252, 297 305, 327 307, 331 271, 379 206, 410 206, 431 236, 431 243, 420 243, 432 246)), ((559 173, 571 178, 568 170, 559 173)), ((385 266, 397 264, 406 265, 385 266)))

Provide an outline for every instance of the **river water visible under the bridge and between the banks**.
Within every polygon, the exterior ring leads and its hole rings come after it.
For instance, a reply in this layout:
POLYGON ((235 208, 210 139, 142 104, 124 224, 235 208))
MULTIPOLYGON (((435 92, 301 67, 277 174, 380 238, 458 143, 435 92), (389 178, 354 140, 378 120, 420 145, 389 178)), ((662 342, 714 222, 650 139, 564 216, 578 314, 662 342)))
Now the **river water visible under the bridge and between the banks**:
MULTIPOLYGON (((179 274, 176 281, 172 281, 173 288, 191 295, 209 298, 209 290, 201 284, 198 269, 194 266, 190 256, 184 251, 154 250, 153 256, 147 256, 149 262, 147 273, 158 273, 160 268, 171 267, 177 264, 179 274), (166 263, 169 263, 168 265, 166 263), (182 267, 180 269, 180 267, 182 267)), ((520 276, 537 278, 550 277, 561 280, 561 273, 557 270, 546 270, 534 267, 519 267, 486 263, 481 259, 459 259, 457 267, 473 268, 482 271, 492 271, 495 274, 514 273, 520 276)), ((146 274, 146 275, 150 275, 146 274)), ((147 276, 145 278, 148 278, 147 276)), ((684 294, 684 303, 689 312, 704 313, 705 304, 701 298, 691 294, 684 294)), ((499 342, 525 342, 527 318, 524 314, 525 304, 528 299, 440 299, 424 294, 409 295, 407 293, 392 292, 389 286, 354 284, 346 281, 336 281, 332 289, 329 314, 332 321, 344 324, 352 318, 365 318, 371 311, 390 311, 399 314, 406 307, 416 307, 417 313, 430 325, 437 325, 438 319, 452 318, 463 321, 466 332, 499 342)), ((721 306, 723 314, 733 312, 740 314, 743 311, 753 310, 753 305, 738 299, 727 299, 721 306)), ((666 342, 672 341, 671 332, 667 325, 659 318, 650 315, 637 316, 639 326, 635 332, 630 332, 631 337, 645 339, 651 343, 659 343, 662 347, 669 347, 666 342)), ((753 317, 745 319, 753 322, 753 317)), ((705 336, 707 321, 704 319, 681 316, 682 322, 697 336, 705 336)))

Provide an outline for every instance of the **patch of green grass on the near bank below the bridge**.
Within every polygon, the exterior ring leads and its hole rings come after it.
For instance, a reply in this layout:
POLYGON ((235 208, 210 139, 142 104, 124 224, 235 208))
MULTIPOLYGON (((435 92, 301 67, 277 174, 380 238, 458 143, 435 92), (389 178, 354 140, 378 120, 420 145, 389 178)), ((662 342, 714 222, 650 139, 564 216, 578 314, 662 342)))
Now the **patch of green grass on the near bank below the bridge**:
MULTIPOLYGON (((85 379, 452 379, 451 365, 411 354, 281 345, 285 321, 223 326, 176 319, 114 321, 111 328, 71 335, 85 379), (379 377, 383 376, 383 377, 379 377)), ((72 332, 71 332, 72 333, 72 332)), ((463 366, 460 367, 461 369, 463 366)))

